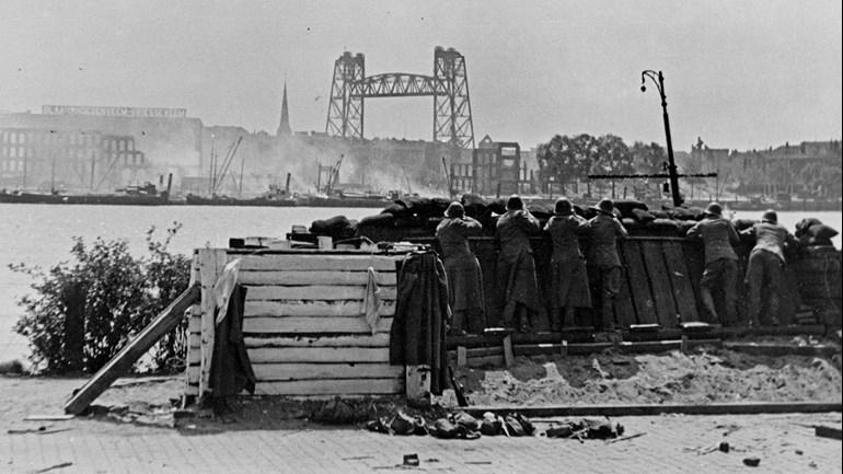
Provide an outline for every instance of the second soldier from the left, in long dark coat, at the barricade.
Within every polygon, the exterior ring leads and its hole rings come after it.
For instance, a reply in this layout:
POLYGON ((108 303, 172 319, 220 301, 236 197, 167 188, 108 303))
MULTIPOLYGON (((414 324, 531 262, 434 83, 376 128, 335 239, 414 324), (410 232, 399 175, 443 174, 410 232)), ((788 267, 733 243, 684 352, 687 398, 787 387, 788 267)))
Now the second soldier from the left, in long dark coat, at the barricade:
POLYGON ((504 298, 501 317, 506 327, 520 332, 530 328, 530 313, 538 309, 535 263, 530 236, 541 232, 539 220, 524 209, 520 196, 507 199, 507 211, 498 218, 497 233, 500 253, 497 261, 497 280, 504 298))

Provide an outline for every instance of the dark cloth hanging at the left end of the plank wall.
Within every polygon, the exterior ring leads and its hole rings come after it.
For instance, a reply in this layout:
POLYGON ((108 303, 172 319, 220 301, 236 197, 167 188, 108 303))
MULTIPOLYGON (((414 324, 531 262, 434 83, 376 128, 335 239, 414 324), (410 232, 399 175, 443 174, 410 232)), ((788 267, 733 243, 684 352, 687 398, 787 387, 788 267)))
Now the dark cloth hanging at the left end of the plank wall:
POLYGON ((234 285, 229 299, 228 314, 218 325, 213 335, 210 386, 213 405, 224 405, 224 398, 236 395, 245 389, 255 393, 255 373, 249 360, 243 340, 243 308, 246 288, 234 285))

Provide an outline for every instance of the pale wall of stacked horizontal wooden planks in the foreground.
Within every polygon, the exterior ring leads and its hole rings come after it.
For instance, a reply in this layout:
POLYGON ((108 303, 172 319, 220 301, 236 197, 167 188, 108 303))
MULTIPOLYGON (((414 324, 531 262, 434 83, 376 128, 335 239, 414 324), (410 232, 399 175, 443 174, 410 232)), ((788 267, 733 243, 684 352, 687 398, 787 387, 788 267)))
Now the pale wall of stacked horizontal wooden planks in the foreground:
POLYGON ((247 288, 243 332, 257 377, 256 394, 404 392, 404 367, 389 363, 395 263, 402 256, 229 253, 227 258, 241 258, 239 281, 247 288), (381 296, 374 334, 362 301, 370 266, 381 296))

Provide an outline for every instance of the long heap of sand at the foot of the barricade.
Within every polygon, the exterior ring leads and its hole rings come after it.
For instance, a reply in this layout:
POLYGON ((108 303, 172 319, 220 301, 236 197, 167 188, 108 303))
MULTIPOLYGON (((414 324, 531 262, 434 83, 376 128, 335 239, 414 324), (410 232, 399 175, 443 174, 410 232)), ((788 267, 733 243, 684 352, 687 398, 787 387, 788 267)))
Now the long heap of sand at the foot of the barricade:
POLYGON ((519 357, 509 370, 459 372, 472 404, 836 402, 841 372, 811 357, 730 350, 519 357))

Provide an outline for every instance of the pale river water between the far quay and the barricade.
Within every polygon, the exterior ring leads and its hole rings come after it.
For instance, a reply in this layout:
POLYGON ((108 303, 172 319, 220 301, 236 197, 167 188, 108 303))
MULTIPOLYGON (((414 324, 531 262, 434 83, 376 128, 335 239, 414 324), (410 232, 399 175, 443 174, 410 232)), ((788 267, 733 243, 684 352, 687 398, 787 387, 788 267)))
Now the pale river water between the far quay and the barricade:
MULTIPOLYGON (((224 247, 231 236, 280 238, 293 224, 310 223, 344 215, 360 219, 379 212, 380 209, 340 208, 238 208, 195 206, 51 206, 0 204, 0 361, 24 358, 28 354, 26 340, 12 332, 12 326, 22 313, 18 299, 30 291, 30 278, 11 271, 9 264, 24 263, 49 268, 70 257, 72 236, 86 242, 96 236, 123 239, 132 253, 146 251, 146 232, 155 227, 158 235, 173 222, 183 224, 173 239, 171 250, 189 254, 194 248, 206 245, 224 247)), ((736 218, 759 218, 761 212, 740 211, 736 218)), ((793 230, 804 217, 816 217, 822 222, 841 229, 840 211, 780 212, 780 221, 793 230)), ((834 239, 840 248, 841 236, 834 239)))

